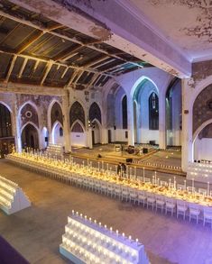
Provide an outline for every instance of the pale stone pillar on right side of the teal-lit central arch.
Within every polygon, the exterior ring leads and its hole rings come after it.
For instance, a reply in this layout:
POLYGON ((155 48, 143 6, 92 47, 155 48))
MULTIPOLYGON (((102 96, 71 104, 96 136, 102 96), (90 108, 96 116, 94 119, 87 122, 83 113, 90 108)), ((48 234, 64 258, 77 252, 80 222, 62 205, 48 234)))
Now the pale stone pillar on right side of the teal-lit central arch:
POLYGON ((166 149, 166 98, 159 92, 159 148, 166 149))

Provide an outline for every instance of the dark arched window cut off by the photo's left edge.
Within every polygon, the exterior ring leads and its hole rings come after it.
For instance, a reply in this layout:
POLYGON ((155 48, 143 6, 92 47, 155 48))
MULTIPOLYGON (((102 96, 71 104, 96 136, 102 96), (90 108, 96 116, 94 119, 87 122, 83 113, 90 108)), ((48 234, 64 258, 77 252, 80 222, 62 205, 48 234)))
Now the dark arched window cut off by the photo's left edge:
POLYGON ((0 138, 12 137, 12 124, 10 111, 0 104, 0 138))

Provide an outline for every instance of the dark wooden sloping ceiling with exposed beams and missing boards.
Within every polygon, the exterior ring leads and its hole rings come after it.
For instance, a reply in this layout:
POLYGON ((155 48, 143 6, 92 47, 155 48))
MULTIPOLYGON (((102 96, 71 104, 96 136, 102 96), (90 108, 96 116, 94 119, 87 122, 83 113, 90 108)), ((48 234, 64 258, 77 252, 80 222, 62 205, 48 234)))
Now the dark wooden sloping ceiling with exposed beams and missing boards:
POLYGON ((151 64, 42 14, 0 1, 0 79, 39 86, 104 86, 151 64))

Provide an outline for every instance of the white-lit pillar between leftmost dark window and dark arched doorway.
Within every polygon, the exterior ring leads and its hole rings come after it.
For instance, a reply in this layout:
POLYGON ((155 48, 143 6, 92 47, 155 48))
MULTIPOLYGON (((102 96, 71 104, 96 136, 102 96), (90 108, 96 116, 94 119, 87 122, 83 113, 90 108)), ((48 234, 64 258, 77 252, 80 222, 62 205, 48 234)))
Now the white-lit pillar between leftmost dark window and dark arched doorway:
POLYGON ((12 113, 12 121, 13 121, 13 134, 14 134, 14 143, 15 143, 15 150, 17 152, 22 151, 22 133, 21 133, 21 120, 18 114, 18 104, 16 95, 14 97, 14 104, 13 104, 13 113, 12 113))

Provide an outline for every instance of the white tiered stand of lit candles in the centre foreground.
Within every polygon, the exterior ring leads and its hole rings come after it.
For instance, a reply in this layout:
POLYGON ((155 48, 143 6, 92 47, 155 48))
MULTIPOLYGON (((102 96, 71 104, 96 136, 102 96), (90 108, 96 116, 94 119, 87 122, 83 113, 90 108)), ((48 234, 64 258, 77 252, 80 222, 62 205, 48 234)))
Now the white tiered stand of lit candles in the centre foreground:
POLYGON ((139 263, 143 245, 72 210, 62 245, 87 263, 139 263), (93 260, 93 262, 92 262, 93 260))

